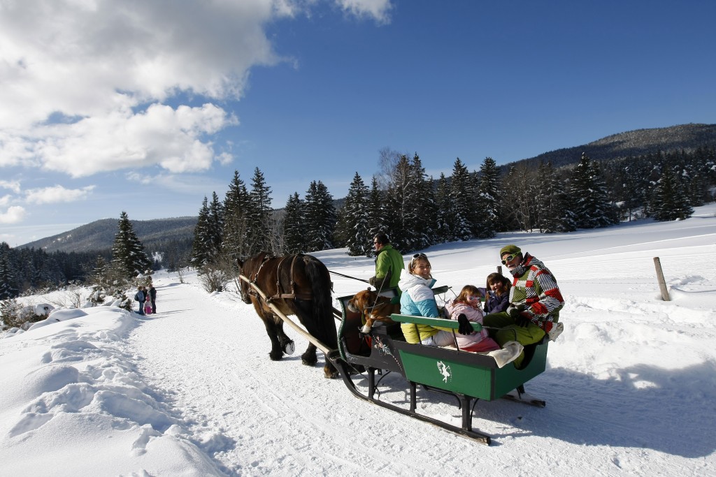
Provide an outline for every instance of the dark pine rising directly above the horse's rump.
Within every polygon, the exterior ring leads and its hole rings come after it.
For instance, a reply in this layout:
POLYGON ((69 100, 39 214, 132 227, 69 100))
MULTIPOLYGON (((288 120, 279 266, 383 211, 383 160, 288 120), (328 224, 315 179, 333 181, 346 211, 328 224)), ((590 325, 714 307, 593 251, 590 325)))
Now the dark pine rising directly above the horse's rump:
POLYGON ((312 181, 306 192, 306 240, 307 250, 333 248, 333 232, 336 228, 336 208, 333 197, 321 181, 312 181))

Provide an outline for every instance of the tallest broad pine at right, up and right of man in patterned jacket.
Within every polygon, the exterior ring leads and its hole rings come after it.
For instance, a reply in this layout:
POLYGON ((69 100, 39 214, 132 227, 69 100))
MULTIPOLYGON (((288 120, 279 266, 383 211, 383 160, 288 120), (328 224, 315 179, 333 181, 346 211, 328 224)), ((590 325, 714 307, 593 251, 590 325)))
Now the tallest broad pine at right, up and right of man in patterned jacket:
POLYGON ((582 153, 572 172, 569 195, 577 227, 593 229, 617 222, 616 210, 609 201, 599 166, 586 153, 582 153))

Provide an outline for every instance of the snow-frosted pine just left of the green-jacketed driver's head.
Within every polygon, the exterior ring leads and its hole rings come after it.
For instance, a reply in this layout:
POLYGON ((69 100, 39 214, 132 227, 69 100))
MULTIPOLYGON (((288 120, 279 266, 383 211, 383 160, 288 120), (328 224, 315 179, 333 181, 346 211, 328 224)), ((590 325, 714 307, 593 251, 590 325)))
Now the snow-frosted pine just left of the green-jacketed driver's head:
POLYGON ((368 187, 356 172, 339 220, 340 235, 344 237, 348 255, 352 257, 368 257, 372 250, 373 236, 369 229, 367 197, 368 187))

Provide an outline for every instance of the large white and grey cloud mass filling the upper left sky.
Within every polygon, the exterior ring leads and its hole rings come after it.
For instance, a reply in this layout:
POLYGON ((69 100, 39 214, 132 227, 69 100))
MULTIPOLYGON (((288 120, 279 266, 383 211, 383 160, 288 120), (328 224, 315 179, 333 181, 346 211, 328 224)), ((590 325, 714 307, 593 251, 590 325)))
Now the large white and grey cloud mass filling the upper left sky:
MULTIPOLYGON (((333 0, 387 21, 387 0, 333 0)), ((238 124, 257 65, 290 61, 263 29, 316 0, 0 0, 0 167, 73 177, 159 164, 205 170, 232 157, 214 135, 238 124), (203 107, 165 103, 204 99, 203 107)))

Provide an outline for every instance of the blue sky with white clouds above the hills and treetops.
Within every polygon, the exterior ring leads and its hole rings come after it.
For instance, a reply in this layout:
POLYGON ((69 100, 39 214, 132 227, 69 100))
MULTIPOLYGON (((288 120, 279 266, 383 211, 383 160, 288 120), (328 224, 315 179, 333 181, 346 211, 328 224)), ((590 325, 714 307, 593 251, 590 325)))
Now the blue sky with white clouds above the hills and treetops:
POLYGON ((713 1, 0 0, 0 240, 716 122, 713 1), (168 6, 170 5, 170 6, 168 6))

